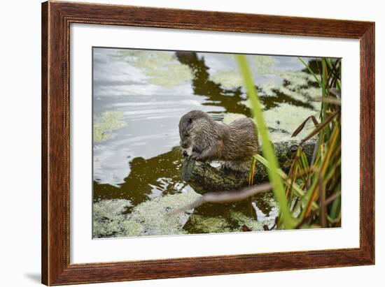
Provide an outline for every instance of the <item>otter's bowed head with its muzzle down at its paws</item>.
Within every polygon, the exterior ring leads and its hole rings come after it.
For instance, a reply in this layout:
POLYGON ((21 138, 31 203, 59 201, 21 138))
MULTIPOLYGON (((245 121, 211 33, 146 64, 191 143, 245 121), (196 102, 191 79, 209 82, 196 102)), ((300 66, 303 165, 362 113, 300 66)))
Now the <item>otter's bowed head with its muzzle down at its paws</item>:
POLYGON ((195 145, 195 137, 193 133, 197 126, 197 122, 201 119, 209 119, 206 112, 200 110, 191 110, 181 117, 179 121, 179 136, 181 137, 181 149, 183 156, 191 156, 193 152, 200 152, 197 145, 195 145))

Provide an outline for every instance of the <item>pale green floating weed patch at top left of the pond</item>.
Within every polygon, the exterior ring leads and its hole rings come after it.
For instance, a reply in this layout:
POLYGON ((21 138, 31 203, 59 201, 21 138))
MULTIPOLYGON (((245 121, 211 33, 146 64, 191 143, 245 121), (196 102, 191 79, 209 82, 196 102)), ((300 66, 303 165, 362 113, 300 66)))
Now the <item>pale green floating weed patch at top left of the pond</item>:
POLYGON ((140 68, 149 77, 151 84, 172 88, 193 80, 190 68, 181 64, 174 52, 119 50, 118 57, 140 68))

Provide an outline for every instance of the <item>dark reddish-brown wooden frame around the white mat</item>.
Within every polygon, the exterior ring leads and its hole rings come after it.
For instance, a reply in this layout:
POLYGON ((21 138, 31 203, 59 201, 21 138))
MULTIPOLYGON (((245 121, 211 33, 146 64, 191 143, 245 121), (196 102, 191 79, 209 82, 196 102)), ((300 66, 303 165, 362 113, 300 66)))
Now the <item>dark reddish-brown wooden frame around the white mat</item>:
POLYGON ((47 285, 374 264, 374 22, 90 3, 42 4, 42 282, 47 285), (360 40, 360 247, 115 263, 69 263, 71 23, 360 40))

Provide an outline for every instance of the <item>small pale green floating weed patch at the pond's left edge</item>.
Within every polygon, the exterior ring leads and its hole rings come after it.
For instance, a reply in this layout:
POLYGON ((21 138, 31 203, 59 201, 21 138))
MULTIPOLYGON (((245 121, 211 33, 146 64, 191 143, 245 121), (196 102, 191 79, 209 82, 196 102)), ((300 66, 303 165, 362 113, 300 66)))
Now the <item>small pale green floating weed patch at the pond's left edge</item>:
POLYGON ((102 117, 94 122, 94 142, 102 142, 111 138, 111 131, 123 128, 123 112, 104 112, 102 117))

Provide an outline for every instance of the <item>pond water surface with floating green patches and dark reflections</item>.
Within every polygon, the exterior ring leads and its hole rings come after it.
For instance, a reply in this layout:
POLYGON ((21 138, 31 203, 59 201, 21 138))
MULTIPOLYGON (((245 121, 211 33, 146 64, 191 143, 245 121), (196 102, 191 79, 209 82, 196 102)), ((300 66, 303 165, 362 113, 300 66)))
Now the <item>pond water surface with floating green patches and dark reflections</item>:
MULTIPOLYGON (((303 58, 311 65, 316 61, 303 58)), ((271 138, 288 140, 321 96, 297 57, 249 55, 271 138)), ((200 195, 183 182, 179 119, 203 110, 230 123, 250 117, 232 54, 93 49, 94 237, 177 235, 272 228, 272 193, 238 203, 183 207, 200 195), (250 208, 252 206, 252 210, 250 208)), ((310 126, 297 135, 303 138, 310 126)))

